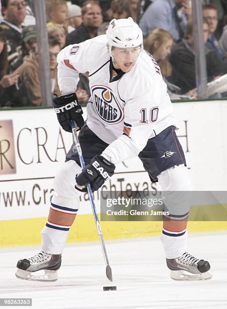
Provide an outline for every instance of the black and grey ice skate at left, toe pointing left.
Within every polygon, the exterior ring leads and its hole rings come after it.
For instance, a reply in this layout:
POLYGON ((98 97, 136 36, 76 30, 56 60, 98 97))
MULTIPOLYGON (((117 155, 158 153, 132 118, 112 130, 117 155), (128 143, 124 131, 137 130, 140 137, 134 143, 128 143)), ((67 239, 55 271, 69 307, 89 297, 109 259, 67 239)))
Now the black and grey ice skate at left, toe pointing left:
POLYGON ((58 280, 57 270, 62 264, 62 254, 49 254, 44 251, 32 256, 29 259, 17 262, 16 277, 32 281, 56 281, 58 280), (34 274, 44 271, 44 274, 34 274))

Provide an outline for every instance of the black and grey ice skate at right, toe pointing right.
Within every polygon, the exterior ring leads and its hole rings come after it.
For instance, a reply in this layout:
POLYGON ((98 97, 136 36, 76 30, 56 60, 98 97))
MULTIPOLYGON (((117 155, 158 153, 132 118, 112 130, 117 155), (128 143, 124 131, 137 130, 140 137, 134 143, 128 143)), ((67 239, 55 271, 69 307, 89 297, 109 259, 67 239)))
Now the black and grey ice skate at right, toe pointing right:
POLYGON ((210 264, 207 261, 194 258, 184 252, 177 259, 166 259, 167 267, 171 270, 174 280, 208 280, 212 278, 209 273, 210 264))

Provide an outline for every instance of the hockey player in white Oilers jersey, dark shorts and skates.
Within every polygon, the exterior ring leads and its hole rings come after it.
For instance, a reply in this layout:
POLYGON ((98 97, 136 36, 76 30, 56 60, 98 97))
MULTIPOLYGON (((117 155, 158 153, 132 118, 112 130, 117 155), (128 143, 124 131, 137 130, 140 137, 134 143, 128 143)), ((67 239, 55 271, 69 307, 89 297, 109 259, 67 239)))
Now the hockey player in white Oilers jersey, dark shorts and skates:
POLYGON ((186 251, 188 170, 166 84, 153 57, 143 50, 141 29, 132 18, 113 19, 106 35, 65 47, 58 63, 62 95, 54 98, 53 107, 64 130, 71 132, 71 120, 81 128, 86 167, 81 170, 73 144, 55 177, 48 221, 41 231, 41 252, 18 261, 16 276, 56 280, 80 191, 86 192, 87 183, 98 190, 117 163, 139 156, 151 180, 158 180, 168 192, 165 204, 170 216, 163 221, 161 241, 171 277, 210 279, 209 263, 186 251), (91 89, 86 124, 75 94, 78 74, 85 72, 89 72, 91 89), (45 275, 35 276, 38 270, 45 270, 45 275))

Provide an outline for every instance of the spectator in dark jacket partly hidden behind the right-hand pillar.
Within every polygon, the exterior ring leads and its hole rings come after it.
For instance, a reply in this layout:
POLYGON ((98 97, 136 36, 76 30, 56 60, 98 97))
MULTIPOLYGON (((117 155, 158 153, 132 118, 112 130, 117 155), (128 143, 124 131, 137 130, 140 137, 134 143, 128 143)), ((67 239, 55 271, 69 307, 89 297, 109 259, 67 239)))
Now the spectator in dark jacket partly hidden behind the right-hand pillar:
MULTIPOLYGON (((186 27, 186 39, 183 39, 176 44, 173 49, 169 62, 172 64, 173 73, 168 80, 173 84, 182 88, 182 91, 188 92, 196 88, 196 73, 195 73, 195 54, 194 54, 194 38, 193 26, 189 21, 186 27)), ((209 24, 203 19, 203 38, 206 44, 209 36, 209 24)), ((215 77, 222 75, 221 60, 216 56, 214 50, 205 45, 207 79, 213 80, 215 77)))

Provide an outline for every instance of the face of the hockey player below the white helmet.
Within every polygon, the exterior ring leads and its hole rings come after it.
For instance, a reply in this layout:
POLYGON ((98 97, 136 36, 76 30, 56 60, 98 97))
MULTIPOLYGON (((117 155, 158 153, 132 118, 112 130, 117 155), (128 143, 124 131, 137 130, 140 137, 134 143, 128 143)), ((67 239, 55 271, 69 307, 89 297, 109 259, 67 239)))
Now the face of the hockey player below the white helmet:
POLYGON ((141 46, 129 48, 113 47, 111 51, 113 63, 117 64, 123 72, 127 73, 134 66, 140 51, 141 46))

